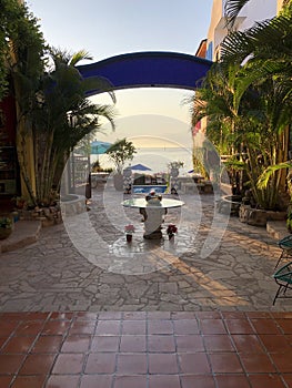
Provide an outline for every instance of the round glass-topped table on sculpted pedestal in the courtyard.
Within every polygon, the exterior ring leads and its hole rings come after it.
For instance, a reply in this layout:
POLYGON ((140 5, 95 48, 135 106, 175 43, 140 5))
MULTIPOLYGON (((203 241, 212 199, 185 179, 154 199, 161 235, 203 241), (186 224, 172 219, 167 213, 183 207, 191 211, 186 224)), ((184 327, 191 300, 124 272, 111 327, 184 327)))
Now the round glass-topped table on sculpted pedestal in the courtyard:
POLYGON ((162 198, 151 203, 145 198, 131 198, 122 202, 124 207, 139 208, 144 216, 144 238, 158 239, 162 238, 161 224, 163 215, 167 214, 168 208, 181 207, 184 202, 179 200, 162 198))

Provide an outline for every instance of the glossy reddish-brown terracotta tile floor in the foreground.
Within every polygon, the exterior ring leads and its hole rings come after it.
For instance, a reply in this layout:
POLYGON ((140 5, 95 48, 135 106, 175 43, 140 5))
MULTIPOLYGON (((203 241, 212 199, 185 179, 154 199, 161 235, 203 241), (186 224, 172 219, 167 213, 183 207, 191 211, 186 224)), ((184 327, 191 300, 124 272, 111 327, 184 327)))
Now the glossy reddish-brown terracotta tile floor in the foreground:
POLYGON ((6 387, 292 387, 292 313, 2 313, 6 387))

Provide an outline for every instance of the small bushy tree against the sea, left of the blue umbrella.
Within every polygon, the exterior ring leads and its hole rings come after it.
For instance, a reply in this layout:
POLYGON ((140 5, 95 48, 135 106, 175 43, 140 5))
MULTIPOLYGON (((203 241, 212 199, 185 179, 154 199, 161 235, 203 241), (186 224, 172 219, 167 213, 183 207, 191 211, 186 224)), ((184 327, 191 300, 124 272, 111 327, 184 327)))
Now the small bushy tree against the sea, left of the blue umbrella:
POLYGON ((118 140, 105 152, 115 165, 117 172, 121 173, 127 161, 131 161, 137 153, 132 142, 127 139, 118 140))

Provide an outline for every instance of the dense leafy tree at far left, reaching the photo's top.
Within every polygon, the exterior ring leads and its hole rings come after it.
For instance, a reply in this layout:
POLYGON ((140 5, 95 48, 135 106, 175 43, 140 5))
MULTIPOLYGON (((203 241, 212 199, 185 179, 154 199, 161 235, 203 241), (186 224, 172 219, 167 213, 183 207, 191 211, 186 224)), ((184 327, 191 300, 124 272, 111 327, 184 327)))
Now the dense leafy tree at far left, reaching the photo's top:
MULTIPOLYGON (((32 129, 27 120, 27 113, 36 100, 39 88, 39 79, 43 73, 46 50, 42 33, 39 30, 37 19, 29 12, 24 4, 18 0, 3 0, 1 2, 3 14, 2 32, 7 45, 1 48, 2 78, 0 83, 6 88, 6 81, 10 86, 3 93, 10 93, 16 101, 17 110, 17 153, 20 165, 23 194, 36 204, 36 183, 31 155, 33 154, 32 129)), ((1 94, 1 93, 0 93, 1 94)), ((3 94, 2 94, 3 95, 3 94)))

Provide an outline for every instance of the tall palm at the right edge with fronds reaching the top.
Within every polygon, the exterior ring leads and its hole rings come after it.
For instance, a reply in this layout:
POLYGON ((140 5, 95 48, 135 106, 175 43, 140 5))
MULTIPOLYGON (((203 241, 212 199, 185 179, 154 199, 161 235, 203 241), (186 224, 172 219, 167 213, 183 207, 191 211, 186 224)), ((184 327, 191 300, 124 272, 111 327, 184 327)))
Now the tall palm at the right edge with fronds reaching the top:
MULTIPOLYGON (((233 32, 222 43, 222 64, 242 63, 245 76, 238 88, 239 100, 253 88, 261 101, 270 146, 264 152, 265 167, 286 161, 289 146, 289 127, 292 103, 292 3, 285 11, 271 21, 255 24, 248 31, 233 32), (269 152, 266 151, 269 150, 269 152)), ((275 203, 276 193, 284 191, 285 172, 273 170, 265 185, 265 195, 270 194, 270 205, 275 203)), ((259 187, 263 188, 263 185, 259 187)))

